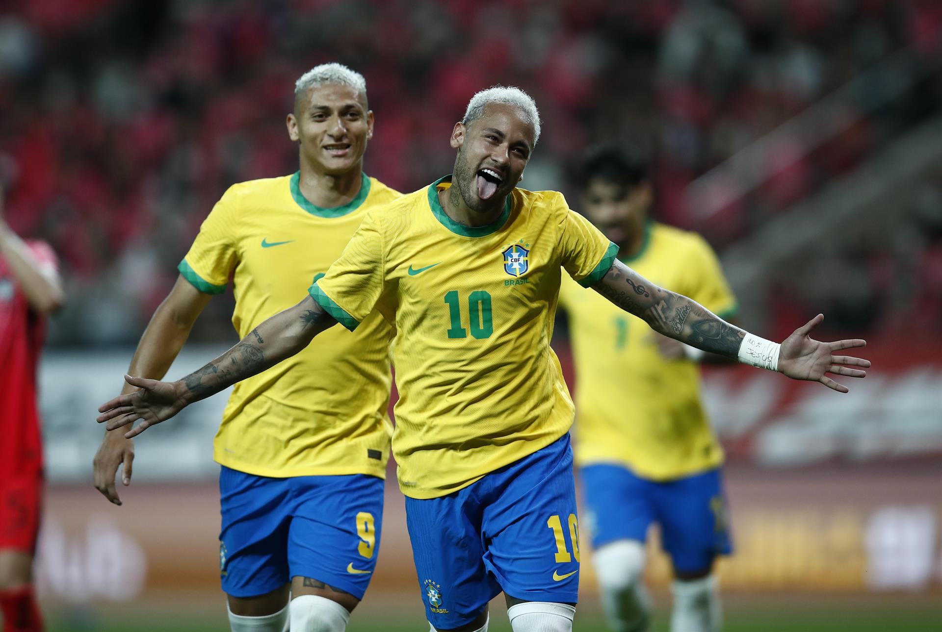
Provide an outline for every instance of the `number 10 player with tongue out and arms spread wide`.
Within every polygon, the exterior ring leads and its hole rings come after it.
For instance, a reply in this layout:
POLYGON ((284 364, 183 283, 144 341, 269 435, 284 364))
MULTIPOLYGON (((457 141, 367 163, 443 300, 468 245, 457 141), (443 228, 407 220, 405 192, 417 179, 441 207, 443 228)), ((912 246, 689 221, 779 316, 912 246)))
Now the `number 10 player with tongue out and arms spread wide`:
POLYGON ((486 630, 487 603, 503 591, 514 632, 571 630, 574 410, 549 347, 563 268, 659 332, 793 378, 847 390, 824 374, 863 377, 836 364, 869 363, 832 356, 863 340, 807 337, 819 319, 779 346, 644 280, 559 193, 516 187, 539 137, 526 93, 479 92, 451 134, 453 175, 370 212, 304 300, 213 362, 174 382, 126 376, 140 390, 103 404, 98 420, 141 419, 134 436, 336 322, 359 331, 378 309, 397 328, 393 450, 432 629, 486 630))

